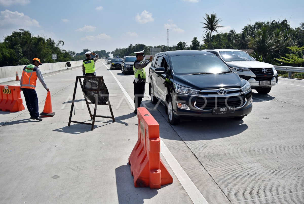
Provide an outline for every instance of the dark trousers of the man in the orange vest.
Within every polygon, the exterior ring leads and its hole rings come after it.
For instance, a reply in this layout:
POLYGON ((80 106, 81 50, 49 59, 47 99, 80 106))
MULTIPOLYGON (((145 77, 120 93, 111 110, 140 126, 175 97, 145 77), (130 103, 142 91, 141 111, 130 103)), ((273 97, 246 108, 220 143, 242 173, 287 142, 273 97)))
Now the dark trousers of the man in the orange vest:
POLYGON ((39 117, 38 96, 35 89, 22 88, 27 110, 31 117, 39 117))

